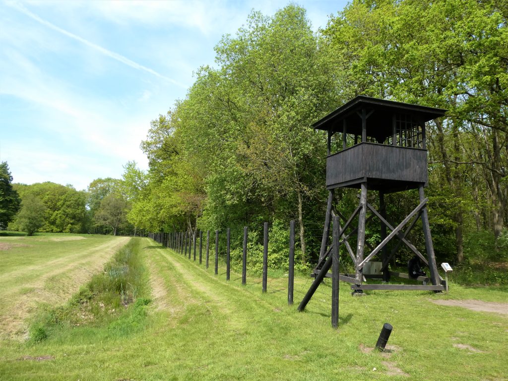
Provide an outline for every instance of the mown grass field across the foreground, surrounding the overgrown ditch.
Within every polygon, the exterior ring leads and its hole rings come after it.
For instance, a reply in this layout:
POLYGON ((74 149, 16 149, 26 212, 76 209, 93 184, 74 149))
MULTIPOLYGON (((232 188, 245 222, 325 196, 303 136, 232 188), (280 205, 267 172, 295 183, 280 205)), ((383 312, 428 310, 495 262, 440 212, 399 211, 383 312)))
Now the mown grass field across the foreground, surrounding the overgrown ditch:
MULTIPOLYGON (((11 280, 3 283, 12 296, 2 299, 2 319, 15 311, 13 300, 24 295, 20 289, 31 287, 25 284, 31 284, 33 278, 60 290, 61 303, 65 302, 63 295, 70 298, 75 292, 66 283, 74 278, 71 265, 75 261, 62 262, 62 271, 53 273, 56 266, 50 263, 57 259, 46 251, 58 251, 53 247, 60 244, 82 244, 83 251, 93 251, 86 242, 109 248, 113 243, 111 237, 62 241, 52 241, 52 236, 33 238, 41 240, 39 250, 45 252, 41 254, 45 258, 36 258, 34 252, 32 259, 18 255, 16 260, 11 252, 16 248, 0 251, 0 258, 8 263, 1 267, 2 281, 4 274, 12 274, 11 280), (11 257, 6 252, 11 252, 11 257)), ((268 293, 262 294, 258 278, 249 277, 242 286, 241 276, 232 272, 227 282, 223 267, 215 276, 213 266, 206 270, 204 264, 189 262, 152 240, 136 240, 149 273, 152 299, 140 329, 113 332, 111 322, 65 326, 38 343, 19 341, 4 332, 0 379, 508 379, 508 315, 432 303, 467 299, 506 303, 506 289, 453 286, 449 295, 376 291, 353 298, 347 285, 341 284, 340 322, 334 330, 326 284, 300 313, 296 305, 287 305, 287 278, 283 276, 270 279, 268 293), (379 353, 372 347, 385 322, 394 329, 389 351, 379 353)), ((0 242, 8 241, 2 237, 0 242)), ((29 244, 20 238, 8 243, 14 242, 29 244)), ((79 258, 84 261, 88 257, 79 258)), ((111 253, 101 257, 103 264, 109 257, 111 253)), ((93 263, 94 269, 100 267, 98 262, 93 263)), ((90 267, 89 271, 95 270, 90 267)), ((85 277, 76 280, 86 281, 85 277)), ((309 279, 297 278, 296 304, 308 283, 309 279)), ((33 291, 28 295, 28 300, 39 296, 33 291)), ((45 297, 42 294, 39 300, 45 297)), ((27 310, 28 315, 35 312, 27 310)))

